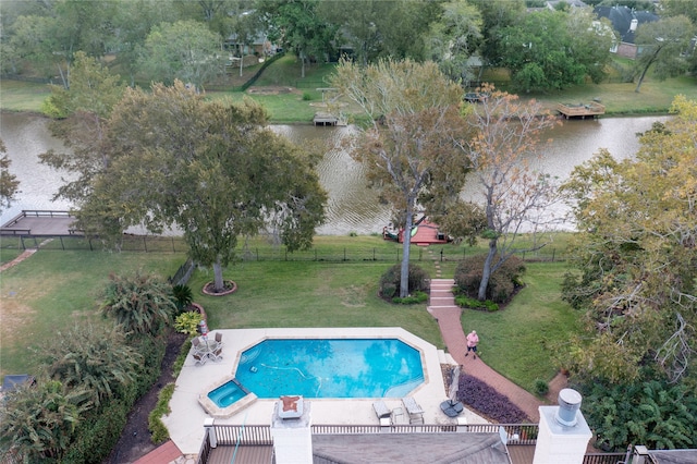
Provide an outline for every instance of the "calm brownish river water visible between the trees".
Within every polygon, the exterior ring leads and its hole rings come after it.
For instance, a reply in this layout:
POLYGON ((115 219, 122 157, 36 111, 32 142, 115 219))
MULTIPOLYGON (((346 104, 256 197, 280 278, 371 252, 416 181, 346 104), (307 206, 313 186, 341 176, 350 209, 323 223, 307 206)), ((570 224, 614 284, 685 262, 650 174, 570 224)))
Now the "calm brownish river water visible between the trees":
MULTIPOLYGON (((617 159, 633 156, 638 147, 637 132, 651 127, 655 121, 668 117, 604 118, 596 121, 563 121, 563 125, 545 134, 552 142, 543 148, 543 157, 536 168, 560 179, 566 179, 573 168, 590 159, 600 148, 607 148, 617 159)), ((380 204, 377 193, 368 188, 363 167, 341 148, 341 141, 353 127, 315 127, 311 125, 276 125, 273 130, 291 141, 323 152, 318 166, 320 181, 329 192, 328 221, 319 234, 345 235, 350 232, 369 234, 380 232, 389 222, 390 210, 380 204)), ((62 184, 61 174, 40 164, 38 155, 62 149, 47 130, 47 120, 26 113, 1 113, 0 137, 12 160, 10 171, 20 180, 21 193, 13 206, 0 216, 4 223, 22 209, 68 209, 63 199, 52 202, 62 184)), ((476 185, 463 193, 478 199, 476 185)))

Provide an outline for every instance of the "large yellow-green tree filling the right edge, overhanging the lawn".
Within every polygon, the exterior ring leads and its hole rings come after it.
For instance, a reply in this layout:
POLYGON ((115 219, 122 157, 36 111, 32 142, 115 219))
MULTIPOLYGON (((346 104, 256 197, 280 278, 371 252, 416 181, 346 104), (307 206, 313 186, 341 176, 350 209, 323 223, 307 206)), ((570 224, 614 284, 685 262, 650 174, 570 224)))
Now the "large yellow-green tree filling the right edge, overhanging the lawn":
POLYGON ((577 374, 633 382, 696 378, 697 102, 640 137, 636 158, 601 151, 565 184, 579 233, 564 297, 586 312, 577 374), (637 368, 640 366, 643 368, 637 368))

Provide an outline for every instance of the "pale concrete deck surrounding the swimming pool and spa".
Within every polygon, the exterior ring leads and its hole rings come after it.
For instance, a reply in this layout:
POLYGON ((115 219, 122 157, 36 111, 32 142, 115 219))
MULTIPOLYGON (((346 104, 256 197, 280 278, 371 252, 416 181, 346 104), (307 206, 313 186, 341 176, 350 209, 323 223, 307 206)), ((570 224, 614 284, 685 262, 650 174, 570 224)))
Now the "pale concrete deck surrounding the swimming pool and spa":
MULTIPOLYGON (((234 375, 240 354, 252 345, 271 338, 322 339, 399 339, 417 349, 424 366, 424 383, 409 393, 424 410, 425 424, 456 424, 445 416, 440 403, 448 399, 441 374, 442 352, 429 342, 399 327, 380 328, 299 328, 299 329, 222 329, 223 359, 196 365, 192 353, 186 356, 176 387, 170 401, 171 413, 162 418, 170 438, 184 455, 196 454, 204 439, 204 420, 211 416, 198 403, 221 379, 234 375)), ((452 358, 451 358, 452 359, 452 358)), ((289 392, 292 394, 292 392, 289 392)), ((403 407, 401 398, 382 399, 390 408, 403 407)), ((273 405, 278 399, 257 399, 250 405, 229 418, 217 418, 216 424, 270 425, 273 405)), ((372 410, 376 399, 308 399, 313 406, 313 424, 367 425, 379 424, 372 410)), ((405 415, 405 417, 407 417, 405 415)), ((460 417, 468 424, 486 424, 487 420, 465 410, 460 417)), ((408 418, 404 419, 408 424, 408 418)))

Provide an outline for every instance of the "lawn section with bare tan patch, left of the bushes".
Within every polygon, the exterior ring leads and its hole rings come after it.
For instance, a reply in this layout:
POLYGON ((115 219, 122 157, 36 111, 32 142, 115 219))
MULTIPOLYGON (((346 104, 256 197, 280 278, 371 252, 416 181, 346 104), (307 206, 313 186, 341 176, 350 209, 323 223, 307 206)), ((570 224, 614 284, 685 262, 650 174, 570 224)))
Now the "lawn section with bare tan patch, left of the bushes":
POLYGON ((97 301, 111 272, 173 274, 183 255, 39 251, 0 279, 0 374, 34 374, 34 349, 76 322, 103 319, 97 301))

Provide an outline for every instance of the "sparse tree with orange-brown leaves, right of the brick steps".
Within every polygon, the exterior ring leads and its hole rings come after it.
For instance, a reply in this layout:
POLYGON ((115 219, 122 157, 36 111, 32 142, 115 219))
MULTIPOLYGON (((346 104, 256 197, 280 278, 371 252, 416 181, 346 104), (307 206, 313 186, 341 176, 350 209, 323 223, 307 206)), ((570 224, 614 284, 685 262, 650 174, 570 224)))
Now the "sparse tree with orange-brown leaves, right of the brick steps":
POLYGON ((553 125, 552 117, 535 101, 523 103, 491 86, 481 90, 488 98, 474 105, 467 118, 475 135, 458 145, 478 181, 487 218, 489 252, 477 295, 484 301, 491 274, 511 256, 543 246, 523 247, 518 234, 526 228, 537 232, 559 218, 546 213, 558 200, 554 180, 530 167, 538 157, 540 131, 553 125))

